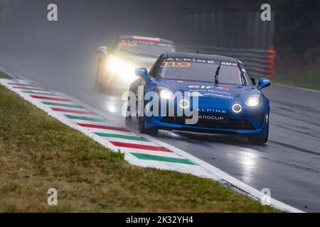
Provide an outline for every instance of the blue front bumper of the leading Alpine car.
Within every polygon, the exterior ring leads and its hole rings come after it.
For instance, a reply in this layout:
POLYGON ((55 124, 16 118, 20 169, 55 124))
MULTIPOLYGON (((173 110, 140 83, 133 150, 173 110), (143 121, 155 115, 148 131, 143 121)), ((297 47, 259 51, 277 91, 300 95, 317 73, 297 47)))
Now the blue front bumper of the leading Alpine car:
MULTIPOLYGON (((263 134, 267 131, 270 108, 267 105, 248 107, 241 104, 242 111, 238 114, 232 111, 233 104, 239 101, 201 101, 199 99, 199 116, 223 116, 228 121, 208 121, 198 118, 195 124, 186 124, 186 116, 146 116, 145 127, 158 127, 165 130, 195 131, 202 133, 228 133, 228 134, 263 134), (214 108, 212 106, 219 106, 214 108), (208 113, 207 110, 215 113, 208 113), (206 110, 206 111, 203 111, 206 110), (217 113, 218 112, 218 113, 217 113)), ((178 108, 175 105, 174 112, 178 108)), ((170 110, 169 110, 170 111, 170 110)), ((176 113, 176 112, 175 112, 176 113)), ((171 113, 172 114, 172 113, 171 113)), ((160 115, 160 114, 159 114, 160 115)))

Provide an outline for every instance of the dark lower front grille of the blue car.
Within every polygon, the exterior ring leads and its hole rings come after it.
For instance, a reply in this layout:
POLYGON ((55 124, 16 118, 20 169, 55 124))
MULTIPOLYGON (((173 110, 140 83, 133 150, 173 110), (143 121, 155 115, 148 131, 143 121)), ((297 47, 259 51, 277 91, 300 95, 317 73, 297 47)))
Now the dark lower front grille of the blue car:
MULTIPOLYGON (((164 123, 175 123, 178 125, 186 125, 186 116, 166 116, 161 119, 164 123)), ((218 128, 218 129, 238 129, 238 130, 255 130, 255 126, 250 121, 244 119, 229 118, 228 123, 210 122, 198 119, 198 123, 186 126, 196 126, 202 128, 218 128)))

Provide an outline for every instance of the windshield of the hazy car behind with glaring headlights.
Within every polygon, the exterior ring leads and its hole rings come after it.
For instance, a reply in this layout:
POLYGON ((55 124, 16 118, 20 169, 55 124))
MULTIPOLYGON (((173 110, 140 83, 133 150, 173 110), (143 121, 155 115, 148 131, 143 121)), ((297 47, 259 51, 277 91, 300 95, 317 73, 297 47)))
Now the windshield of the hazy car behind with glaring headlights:
POLYGON ((166 43, 147 42, 139 40, 120 40, 116 44, 117 54, 141 55, 159 57, 164 52, 174 52, 174 46, 166 43))

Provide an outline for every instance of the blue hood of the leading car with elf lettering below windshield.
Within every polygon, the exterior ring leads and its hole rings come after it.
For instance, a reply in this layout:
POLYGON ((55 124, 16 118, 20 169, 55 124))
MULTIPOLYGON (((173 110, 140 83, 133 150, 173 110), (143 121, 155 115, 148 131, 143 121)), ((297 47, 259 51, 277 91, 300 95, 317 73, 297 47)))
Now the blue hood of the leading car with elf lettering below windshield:
POLYGON ((186 81, 174 79, 159 79, 159 85, 168 87, 172 92, 188 92, 189 96, 199 99, 242 99, 253 89, 253 86, 239 86, 235 84, 215 84, 210 82, 186 81))

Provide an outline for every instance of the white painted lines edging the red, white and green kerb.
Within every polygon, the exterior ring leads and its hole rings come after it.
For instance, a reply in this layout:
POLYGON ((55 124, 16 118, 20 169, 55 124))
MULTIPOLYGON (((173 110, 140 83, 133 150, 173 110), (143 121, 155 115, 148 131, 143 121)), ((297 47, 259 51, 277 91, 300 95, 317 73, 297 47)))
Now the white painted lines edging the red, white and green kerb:
MULTIPOLYGON (((10 72, 8 72, 7 70, 5 70, 1 67, 0 67, 0 70, 2 70, 3 72, 6 72, 10 76, 14 77, 10 72)), ((20 78, 23 78, 23 77, 20 77, 20 78)), ((17 79, 17 77, 14 77, 14 79, 17 79)), ((25 80, 27 82, 31 82, 32 84, 38 84, 38 83, 33 82, 29 79, 23 78, 23 80, 25 80)), ((0 79, 0 82, 3 82, 3 81, 7 81, 7 79, 0 79)), ((6 87, 5 83, 1 83, 1 84, 3 84, 6 87)), ((7 87, 7 88, 9 88, 9 87, 7 87)), ((51 90, 48 90, 48 91, 52 92, 51 90)), ((16 92, 16 91, 14 91, 14 92, 16 92)), ((70 126, 71 128, 74 128, 82 133, 85 133, 85 135, 90 136, 90 138, 95 140, 97 143, 104 145, 106 148, 109 148, 110 150, 114 150, 114 151, 119 150, 119 148, 117 146, 112 145, 112 143, 110 143, 107 139, 102 138, 99 135, 96 135, 95 133, 92 133, 91 131, 88 131, 87 129, 85 129, 81 126, 77 126, 75 123, 70 121, 70 119, 61 116, 60 114, 52 111, 50 108, 44 108, 44 106, 39 104, 38 101, 34 101, 33 99, 28 98, 27 94, 23 95, 20 92, 17 94, 19 94, 21 97, 23 97, 23 99, 30 101, 32 104, 37 106, 39 109, 46 111, 46 113, 48 113, 50 116, 53 116, 54 118, 57 118, 62 123, 65 123, 65 125, 70 126)), ((75 102, 75 104, 80 104, 81 106, 85 107, 85 109, 93 111, 93 112, 99 114, 100 116, 104 116, 108 120, 110 120, 110 118, 115 119, 114 116, 110 116, 109 114, 105 114, 102 111, 94 109, 91 106, 88 106, 87 104, 84 104, 81 101, 74 99, 73 97, 62 94, 60 92, 53 92, 53 94, 60 94, 60 96, 66 97, 66 98, 70 99, 70 101, 75 102)), ((167 143, 164 143, 164 142, 162 142, 154 137, 151 137, 149 135, 142 135, 142 136, 144 138, 151 140, 151 142, 154 142, 158 145, 161 145, 164 148, 168 148, 169 150, 172 150, 174 153, 176 153, 177 155, 179 155, 183 158, 186 158, 188 160, 196 162, 198 164, 198 166, 189 167, 189 166, 183 165, 183 164, 164 163, 164 162, 160 162, 160 161, 150 161, 150 160, 148 161, 149 162, 148 163, 148 162, 145 162, 142 160, 138 160, 137 157, 134 157, 134 155, 129 154, 129 152, 128 152, 129 148, 122 149, 122 152, 125 153, 125 159, 133 165, 139 165, 139 166, 143 166, 143 167, 156 167, 156 168, 159 168, 162 170, 176 170, 178 172, 189 173, 192 175, 196 175, 198 177, 210 178, 210 179, 218 181, 222 184, 226 184, 238 192, 245 193, 248 196, 250 196, 256 200, 260 200, 261 196, 263 195, 262 192, 260 192, 259 190, 255 189, 253 187, 250 187, 248 184, 241 182, 240 180, 236 179, 235 177, 228 175, 226 172, 223 172, 222 170, 218 169, 217 167, 214 167, 213 165, 208 164, 208 162, 204 162, 203 160, 200 160, 197 157, 194 157, 193 155, 190 155, 189 153, 186 153, 185 151, 174 147, 173 145, 169 145, 167 143)), ((271 198, 270 205, 276 209, 281 209, 281 210, 287 211, 287 212, 294 212, 294 213, 303 212, 303 211, 296 209, 292 206, 284 204, 281 201, 278 201, 277 199, 271 198)))

